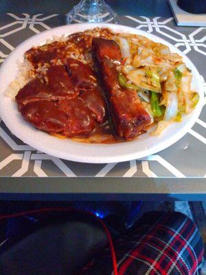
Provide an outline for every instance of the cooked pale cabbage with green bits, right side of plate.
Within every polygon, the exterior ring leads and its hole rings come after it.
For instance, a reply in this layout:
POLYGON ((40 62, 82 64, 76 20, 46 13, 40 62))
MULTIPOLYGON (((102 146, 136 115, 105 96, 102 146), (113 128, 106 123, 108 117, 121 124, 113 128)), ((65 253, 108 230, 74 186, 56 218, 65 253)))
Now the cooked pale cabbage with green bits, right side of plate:
POLYGON ((199 100, 198 93, 191 91, 192 74, 183 58, 144 36, 121 34, 117 40, 126 58, 118 67, 119 85, 137 89, 144 106, 150 106, 150 115, 158 122, 155 134, 171 122, 181 122, 199 100))

